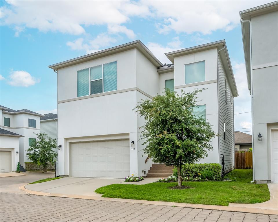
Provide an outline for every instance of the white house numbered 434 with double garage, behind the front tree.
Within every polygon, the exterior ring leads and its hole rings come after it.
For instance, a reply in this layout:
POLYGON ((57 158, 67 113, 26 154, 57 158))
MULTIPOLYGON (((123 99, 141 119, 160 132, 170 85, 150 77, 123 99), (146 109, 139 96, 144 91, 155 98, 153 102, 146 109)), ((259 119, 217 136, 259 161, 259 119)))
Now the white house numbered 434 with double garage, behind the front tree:
POLYGON ((205 117, 219 137, 201 162, 234 169, 233 97, 237 88, 224 40, 166 53, 163 65, 136 40, 49 67, 57 73, 59 174, 71 177, 145 176, 153 162, 143 155, 133 110, 141 99, 207 88, 195 114, 205 117))

